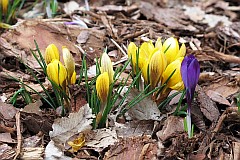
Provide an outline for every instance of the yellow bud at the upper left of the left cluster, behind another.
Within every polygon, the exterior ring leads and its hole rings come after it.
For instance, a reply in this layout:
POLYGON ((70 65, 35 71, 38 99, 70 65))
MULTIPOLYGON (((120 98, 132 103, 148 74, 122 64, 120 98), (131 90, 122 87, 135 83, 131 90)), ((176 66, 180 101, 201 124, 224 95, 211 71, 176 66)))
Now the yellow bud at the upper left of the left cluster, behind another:
POLYGON ((51 63, 53 59, 60 60, 58 48, 54 44, 48 45, 45 50, 45 62, 46 64, 51 63))

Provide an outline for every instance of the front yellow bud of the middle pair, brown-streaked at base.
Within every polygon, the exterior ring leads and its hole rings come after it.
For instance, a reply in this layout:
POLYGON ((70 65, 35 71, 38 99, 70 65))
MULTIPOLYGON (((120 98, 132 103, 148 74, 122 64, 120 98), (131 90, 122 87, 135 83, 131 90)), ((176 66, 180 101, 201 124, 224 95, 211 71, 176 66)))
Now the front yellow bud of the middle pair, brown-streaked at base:
POLYGON ((97 95, 100 101, 105 104, 107 102, 109 92, 109 76, 107 72, 100 74, 96 81, 97 95))

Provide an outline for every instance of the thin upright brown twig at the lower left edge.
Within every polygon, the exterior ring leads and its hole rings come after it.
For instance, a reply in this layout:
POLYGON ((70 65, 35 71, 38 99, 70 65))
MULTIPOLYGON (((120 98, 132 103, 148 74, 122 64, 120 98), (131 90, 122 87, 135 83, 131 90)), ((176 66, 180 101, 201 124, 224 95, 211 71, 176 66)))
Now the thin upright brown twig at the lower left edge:
POLYGON ((16 117, 16 126, 17 126, 17 151, 14 157, 14 160, 16 160, 19 154, 21 153, 21 145, 22 145, 20 111, 16 113, 15 117, 16 117))

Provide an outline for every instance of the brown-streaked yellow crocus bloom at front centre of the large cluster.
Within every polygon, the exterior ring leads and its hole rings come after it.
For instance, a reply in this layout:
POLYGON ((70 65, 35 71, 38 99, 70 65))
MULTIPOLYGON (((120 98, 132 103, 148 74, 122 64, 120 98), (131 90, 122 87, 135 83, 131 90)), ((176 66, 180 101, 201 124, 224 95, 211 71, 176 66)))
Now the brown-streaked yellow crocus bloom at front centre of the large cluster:
POLYGON ((166 66, 167 60, 165 55, 160 50, 157 50, 149 63, 151 87, 156 87, 166 66))

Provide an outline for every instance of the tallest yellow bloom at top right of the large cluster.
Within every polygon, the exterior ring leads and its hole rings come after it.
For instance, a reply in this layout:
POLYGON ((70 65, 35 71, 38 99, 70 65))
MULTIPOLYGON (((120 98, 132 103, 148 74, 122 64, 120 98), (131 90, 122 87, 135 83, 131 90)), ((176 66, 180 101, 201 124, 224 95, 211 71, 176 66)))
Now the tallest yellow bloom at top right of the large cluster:
POLYGON ((170 37, 163 43, 163 52, 165 52, 168 64, 176 59, 178 51, 179 45, 176 38, 170 37))

